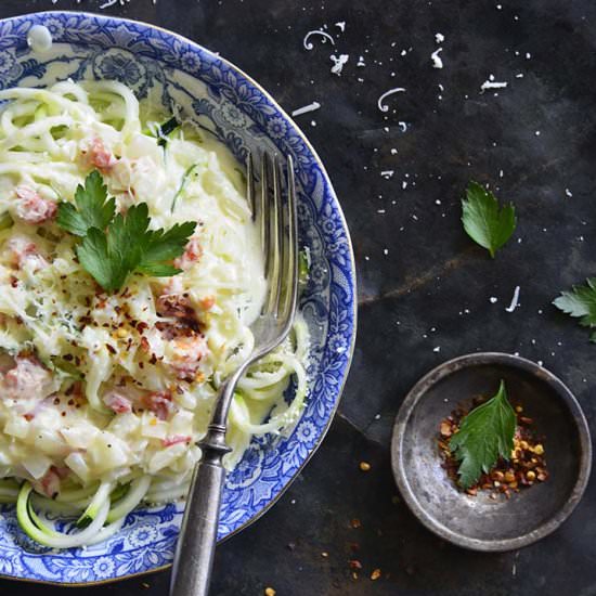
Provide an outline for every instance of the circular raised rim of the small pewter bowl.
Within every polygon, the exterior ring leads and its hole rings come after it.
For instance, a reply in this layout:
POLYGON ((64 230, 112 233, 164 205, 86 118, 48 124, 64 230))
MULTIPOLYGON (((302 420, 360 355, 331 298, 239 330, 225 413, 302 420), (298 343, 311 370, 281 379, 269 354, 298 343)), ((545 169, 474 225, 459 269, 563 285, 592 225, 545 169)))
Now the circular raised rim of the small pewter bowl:
POLYGON ((534 542, 537 542, 554 532, 563 521, 567 520, 580 503, 587 487, 589 472, 592 469, 592 441, 589 427, 580 403, 571 390, 555 374, 550 373, 543 366, 532 362, 531 360, 504 352, 469 353, 443 362, 439 366, 432 368, 409 391, 393 425, 391 438, 391 467, 393 477, 398 483, 398 488, 403 500, 406 502, 415 517, 418 518, 418 520, 422 521, 428 530, 443 540, 469 550, 480 550, 485 553, 503 553, 514 550, 533 544, 534 542), (541 380, 546 383, 554 390, 559 400, 561 400, 567 406, 573 422, 575 423, 579 433, 580 459, 578 479, 575 480, 575 484, 573 485, 573 490, 571 491, 569 498, 555 515, 541 523, 536 529, 524 535, 513 539, 494 541, 474 539, 459 532, 455 532, 439 522, 426 510, 423 505, 420 505, 418 498, 416 497, 415 491, 410 484, 406 466, 403 463, 404 431, 420 399, 423 399, 427 391, 441 379, 452 374, 456 374, 464 368, 469 368, 481 364, 506 365, 524 371, 535 376, 540 376, 541 380))

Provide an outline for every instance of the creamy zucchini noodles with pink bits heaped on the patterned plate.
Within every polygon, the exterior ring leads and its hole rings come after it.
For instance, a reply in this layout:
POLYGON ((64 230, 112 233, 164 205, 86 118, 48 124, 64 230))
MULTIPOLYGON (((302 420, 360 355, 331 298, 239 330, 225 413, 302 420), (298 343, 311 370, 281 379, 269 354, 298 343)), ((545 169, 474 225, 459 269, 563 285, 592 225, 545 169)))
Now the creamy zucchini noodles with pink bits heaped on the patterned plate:
MULTIPOLYGON (((224 145, 117 81, 0 91, 0 503, 16 503, 33 540, 96 544, 138 505, 184 497, 218 388, 254 348, 265 290, 259 231, 224 145), (131 274, 115 294, 96 285, 55 221, 95 170, 119 212, 146 203, 151 229, 198 223, 174 261, 181 273, 131 274)), ((308 350, 299 315, 241 379, 229 469, 252 436, 299 419, 308 350)))

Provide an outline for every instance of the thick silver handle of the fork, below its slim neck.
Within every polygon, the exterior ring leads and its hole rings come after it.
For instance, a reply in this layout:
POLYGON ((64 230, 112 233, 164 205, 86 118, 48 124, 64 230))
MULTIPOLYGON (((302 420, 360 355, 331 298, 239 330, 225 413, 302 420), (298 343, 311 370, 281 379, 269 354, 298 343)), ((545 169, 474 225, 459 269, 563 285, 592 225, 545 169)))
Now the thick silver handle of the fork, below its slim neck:
POLYGON ((170 596, 207 596, 218 533, 221 493, 225 479, 222 458, 225 427, 209 426, 200 443, 203 457, 195 466, 173 559, 170 596))

